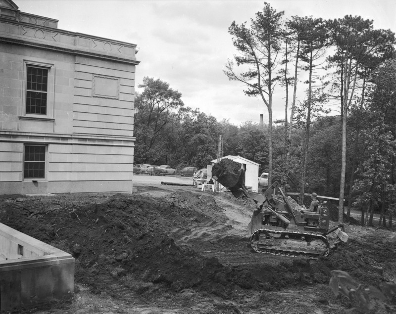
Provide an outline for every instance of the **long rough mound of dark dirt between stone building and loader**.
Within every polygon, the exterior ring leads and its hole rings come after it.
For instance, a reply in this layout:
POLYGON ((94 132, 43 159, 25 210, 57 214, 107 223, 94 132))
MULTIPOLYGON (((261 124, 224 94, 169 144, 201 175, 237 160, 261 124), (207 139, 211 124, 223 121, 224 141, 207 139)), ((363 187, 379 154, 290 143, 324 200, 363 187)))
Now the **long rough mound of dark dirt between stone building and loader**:
POLYGON ((243 269, 225 268, 214 257, 182 249, 169 236, 175 227, 213 219, 225 222, 209 195, 178 191, 159 198, 117 194, 80 200, 63 195, 27 198, 17 204, 18 210, 6 208, 2 221, 71 253, 76 258, 76 280, 94 290, 105 289, 96 281, 99 273, 113 277, 134 273, 174 291, 198 288, 222 295, 233 291, 234 285, 257 286, 243 269))

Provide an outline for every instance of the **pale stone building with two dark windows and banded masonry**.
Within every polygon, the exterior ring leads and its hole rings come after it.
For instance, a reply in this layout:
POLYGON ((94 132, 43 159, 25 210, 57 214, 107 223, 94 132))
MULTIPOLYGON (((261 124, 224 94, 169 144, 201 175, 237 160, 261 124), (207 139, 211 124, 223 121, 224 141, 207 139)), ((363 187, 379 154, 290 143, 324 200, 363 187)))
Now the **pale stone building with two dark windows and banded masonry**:
POLYGON ((0 194, 131 192, 136 45, 0 0, 0 194))

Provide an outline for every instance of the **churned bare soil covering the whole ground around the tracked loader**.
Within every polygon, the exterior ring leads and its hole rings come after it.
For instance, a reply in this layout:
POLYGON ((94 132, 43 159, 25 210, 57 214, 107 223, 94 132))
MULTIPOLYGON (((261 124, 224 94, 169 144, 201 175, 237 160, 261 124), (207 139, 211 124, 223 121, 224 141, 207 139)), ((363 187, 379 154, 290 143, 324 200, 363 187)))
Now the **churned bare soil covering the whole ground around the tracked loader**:
MULTIPOLYGON (((76 263, 71 300, 18 313, 346 313, 352 304, 331 292, 331 270, 367 287, 396 281, 394 230, 351 221, 349 241, 327 257, 262 255, 249 247, 251 213, 231 193, 189 186, 1 196, 1 223, 76 263)), ((395 311, 394 301, 372 313, 395 311)))

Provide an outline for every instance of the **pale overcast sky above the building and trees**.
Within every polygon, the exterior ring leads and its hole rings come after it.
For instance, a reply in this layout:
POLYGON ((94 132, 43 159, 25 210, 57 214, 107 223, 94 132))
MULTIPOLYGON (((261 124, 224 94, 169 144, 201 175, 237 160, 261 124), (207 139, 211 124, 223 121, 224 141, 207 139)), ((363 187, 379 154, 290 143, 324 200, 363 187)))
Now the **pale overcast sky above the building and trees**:
MULTIPOLYGON (((228 27, 250 21, 259 0, 13 0, 19 10, 59 20, 62 30, 137 44, 136 87, 145 76, 182 93, 186 106, 235 125, 268 119, 259 98, 223 73, 236 49, 228 27)), ((396 32, 395 0, 267 0, 285 17, 360 15, 374 28, 396 32)), ((137 89, 139 91, 139 89, 137 89)), ((273 118, 284 118, 284 91, 276 90, 273 118)), ((301 95, 300 97, 303 97, 301 95)), ((302 99, 301 99, 302 100, 302 99)), ((335 108, 337 109, 337 108, 335 108)))

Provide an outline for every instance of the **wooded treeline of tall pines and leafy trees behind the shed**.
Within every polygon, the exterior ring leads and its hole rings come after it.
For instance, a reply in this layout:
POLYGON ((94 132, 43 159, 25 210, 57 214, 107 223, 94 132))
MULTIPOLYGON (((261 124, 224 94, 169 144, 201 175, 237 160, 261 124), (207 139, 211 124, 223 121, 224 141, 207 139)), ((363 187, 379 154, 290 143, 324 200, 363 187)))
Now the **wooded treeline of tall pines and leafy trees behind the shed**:
POLYGON ((166 82, 146 77, 135 99, 135 163, 202 168, 216 159, 223 135, 223 155, 259 163, 270 181, 288 184, 285 174, 292 172, 301 202, 304 192, 339 197, 342 222, 345 198, 364 214, 362 224, 372 224, 374 211, 392 224, 395 34, 357 16, 284 20, 283 14, 265 3, 250 26, 233 22, 229 28, 238 54, 224 72, 243 82, 248 96, 262 99, 268 123, 217 121, 185 106, 166 82), (275 92, 284 94, 285 118, 273 122, 275 92), (330 115, 329 102, 338 115, 330 115))

